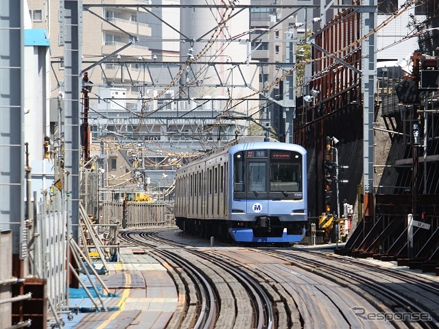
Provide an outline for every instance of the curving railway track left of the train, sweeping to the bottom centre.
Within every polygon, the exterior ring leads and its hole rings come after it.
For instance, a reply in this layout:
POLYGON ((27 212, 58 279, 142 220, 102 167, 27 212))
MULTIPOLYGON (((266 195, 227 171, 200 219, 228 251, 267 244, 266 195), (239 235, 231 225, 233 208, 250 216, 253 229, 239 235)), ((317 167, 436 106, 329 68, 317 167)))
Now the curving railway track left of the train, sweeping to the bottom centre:
MULTIPOLYGON (((220 261, 209 261, 202 252, 183 249, 186 245, 169 241, 164 245, 163 239, 150 232, 125 232, 121 239, 152 249, 151 254, 162 263, 175 264, 173 269, 179 273, 186 298, 184 312, 174 317, 168 328, 272 328, 270 298, 245 273, 220 261), (190 283, 185 275, 191 278, 190 283)), ((176 280, 175 275, 173 278, 176 280)))

